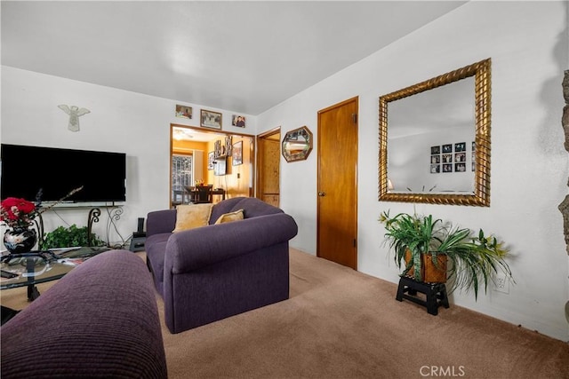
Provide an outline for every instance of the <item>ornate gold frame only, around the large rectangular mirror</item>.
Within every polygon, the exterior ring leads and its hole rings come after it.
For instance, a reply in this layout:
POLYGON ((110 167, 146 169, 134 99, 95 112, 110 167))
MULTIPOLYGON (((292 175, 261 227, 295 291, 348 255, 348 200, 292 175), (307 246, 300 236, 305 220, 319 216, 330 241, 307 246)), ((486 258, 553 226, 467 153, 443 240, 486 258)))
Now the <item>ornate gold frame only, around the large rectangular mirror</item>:
POLYGON ((491 59, 481 60, 425 82, 380 97, 379 201, 490 206, 491 59), (389 193, 388 190, 388 104, 423 91, 475 77, 476 166, 474 194, 389 193))

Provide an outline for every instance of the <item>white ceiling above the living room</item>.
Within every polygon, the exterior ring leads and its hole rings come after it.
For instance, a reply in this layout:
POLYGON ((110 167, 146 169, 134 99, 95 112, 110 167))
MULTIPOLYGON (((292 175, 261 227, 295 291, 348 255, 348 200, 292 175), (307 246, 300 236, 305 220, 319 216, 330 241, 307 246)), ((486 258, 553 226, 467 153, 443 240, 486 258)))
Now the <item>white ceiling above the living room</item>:
POLYGON ((260 114, 466 2, 2 1, 2 65, 260 114))

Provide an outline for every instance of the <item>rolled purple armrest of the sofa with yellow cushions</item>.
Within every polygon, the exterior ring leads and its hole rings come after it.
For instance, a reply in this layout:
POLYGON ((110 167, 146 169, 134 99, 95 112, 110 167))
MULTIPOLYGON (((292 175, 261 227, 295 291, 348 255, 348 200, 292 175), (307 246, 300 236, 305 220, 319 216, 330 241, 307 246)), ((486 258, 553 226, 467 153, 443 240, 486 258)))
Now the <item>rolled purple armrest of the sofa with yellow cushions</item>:
POLYGON ((165 272, 191 272, 289 241, 298 233, 293 217, 276 213, 173 233, 164 258, 165 272))

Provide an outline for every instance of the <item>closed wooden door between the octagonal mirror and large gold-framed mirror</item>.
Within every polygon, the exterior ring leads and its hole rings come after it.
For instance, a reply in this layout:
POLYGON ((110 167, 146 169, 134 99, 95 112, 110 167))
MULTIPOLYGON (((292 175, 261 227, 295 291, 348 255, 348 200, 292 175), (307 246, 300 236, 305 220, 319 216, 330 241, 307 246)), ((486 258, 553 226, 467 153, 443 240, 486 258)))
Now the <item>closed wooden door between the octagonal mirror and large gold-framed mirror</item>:
POLYGON ((357 270, 357 98, 318 112, 317 257, 357 270))

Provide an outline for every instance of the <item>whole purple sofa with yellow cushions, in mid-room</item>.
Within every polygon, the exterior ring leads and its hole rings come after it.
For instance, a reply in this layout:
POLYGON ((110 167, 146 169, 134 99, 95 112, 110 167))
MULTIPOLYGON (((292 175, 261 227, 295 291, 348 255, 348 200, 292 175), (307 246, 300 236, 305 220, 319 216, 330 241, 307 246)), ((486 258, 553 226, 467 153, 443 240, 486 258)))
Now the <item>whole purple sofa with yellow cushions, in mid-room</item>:
POLYGON ((179 333, 289 296, 293 217, 264 201, 236 197, 213 205, 210 225, 172 233, 176 209, 148 213, 148 267, 164 298, 165 324, 179 333), (244 219, 213 225, 244 209, 244 219))

